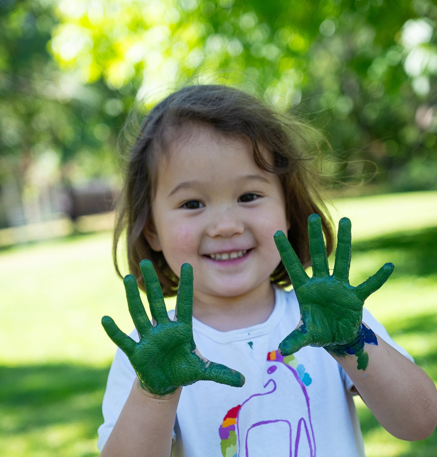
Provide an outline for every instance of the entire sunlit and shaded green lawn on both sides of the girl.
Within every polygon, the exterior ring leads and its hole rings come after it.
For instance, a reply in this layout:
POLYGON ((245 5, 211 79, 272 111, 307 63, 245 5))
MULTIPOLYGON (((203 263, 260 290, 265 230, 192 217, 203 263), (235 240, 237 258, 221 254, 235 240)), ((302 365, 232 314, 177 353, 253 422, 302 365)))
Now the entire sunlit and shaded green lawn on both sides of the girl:
MULTIPOLYGON (((386 261, 395 264, 366 307, 437 381, 437 222, 431 210, 437 193, 423 197, 426 204, 415 203, 421 202, 417 194, 347 199, 337 208, 355 226, 351 284, 386 261)), ((100 319, 109 314, 125 331, 132 328, 110 252, 109 233, 0 252, 1 456, 98 455, 100 407, 115 352, 100 319)), ((398 440, 356 403, 368 457, 435 457, 437 432, 424 441, 398 440)))

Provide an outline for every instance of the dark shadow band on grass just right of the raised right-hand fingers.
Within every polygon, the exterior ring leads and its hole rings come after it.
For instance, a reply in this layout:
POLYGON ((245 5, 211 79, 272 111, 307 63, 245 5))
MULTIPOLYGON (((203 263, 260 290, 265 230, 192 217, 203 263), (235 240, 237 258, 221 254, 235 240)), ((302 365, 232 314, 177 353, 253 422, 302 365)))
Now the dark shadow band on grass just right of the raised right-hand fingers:
POLYGON ((428 276, 437 273, 437 227, 355 241, 352 255, 360 251, 397 251, 402 262, 393 275, 428 276))

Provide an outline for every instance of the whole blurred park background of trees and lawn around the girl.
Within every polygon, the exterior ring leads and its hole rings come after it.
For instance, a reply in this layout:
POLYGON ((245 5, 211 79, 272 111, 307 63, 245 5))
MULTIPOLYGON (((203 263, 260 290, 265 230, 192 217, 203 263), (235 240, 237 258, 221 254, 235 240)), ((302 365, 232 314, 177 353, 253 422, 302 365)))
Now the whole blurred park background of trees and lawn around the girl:
MULTIPOLYGON (((136 100, 188 80, 326 136, 351 283, 395 264, 366 306, 437 381, 436 22, 431 0, 0 1, 0 455, 98 455, 100 318, 132 327, 110 255, 117 138, 136 100)), ((400 441, 357 406, 368 457, 435 457, 436 432, 400 441)))

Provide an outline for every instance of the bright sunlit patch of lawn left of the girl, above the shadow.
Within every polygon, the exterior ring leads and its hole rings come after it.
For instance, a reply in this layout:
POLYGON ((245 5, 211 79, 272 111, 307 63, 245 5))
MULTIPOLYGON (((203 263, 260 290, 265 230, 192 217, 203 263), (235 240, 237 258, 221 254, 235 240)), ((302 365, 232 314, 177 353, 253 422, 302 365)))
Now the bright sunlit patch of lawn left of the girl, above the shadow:
MULTIPOLYGON (((0 333, 1 363, 107 364, 115 345, 102 316, 127 333, 133 329, 109 233, 9 250, 0 255, 0 275, 7 284, 0 291, 1 321, 8 323, 0 333)), ((147 304, 144 294, 143 300, 147 304)))

